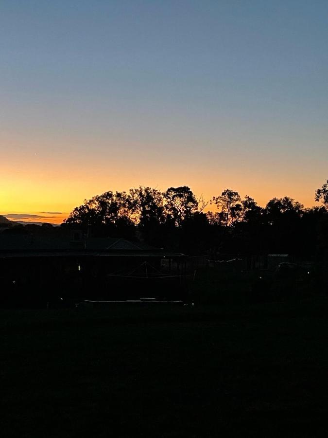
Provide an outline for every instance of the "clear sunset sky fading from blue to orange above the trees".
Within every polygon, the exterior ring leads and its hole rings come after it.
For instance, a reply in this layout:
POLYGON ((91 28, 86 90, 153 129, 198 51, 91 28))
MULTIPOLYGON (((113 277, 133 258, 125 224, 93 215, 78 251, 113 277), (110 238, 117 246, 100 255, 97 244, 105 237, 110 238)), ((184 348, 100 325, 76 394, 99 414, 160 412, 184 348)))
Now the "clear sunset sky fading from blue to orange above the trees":
POLYGON ((138 185, 313 205, 327 22, 320 0, 2 0, 0 214, 138 185))

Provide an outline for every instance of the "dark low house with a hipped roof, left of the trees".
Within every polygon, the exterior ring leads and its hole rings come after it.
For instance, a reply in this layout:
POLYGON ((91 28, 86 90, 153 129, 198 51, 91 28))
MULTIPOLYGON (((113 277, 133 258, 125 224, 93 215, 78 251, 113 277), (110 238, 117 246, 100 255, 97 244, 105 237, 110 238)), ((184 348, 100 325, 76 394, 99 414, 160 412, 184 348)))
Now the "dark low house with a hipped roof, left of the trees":
POLYGON ((118 238, 0 236, 3 304, 46 304, 58 298, 161 299, 185 293, 186 260, 118 238))

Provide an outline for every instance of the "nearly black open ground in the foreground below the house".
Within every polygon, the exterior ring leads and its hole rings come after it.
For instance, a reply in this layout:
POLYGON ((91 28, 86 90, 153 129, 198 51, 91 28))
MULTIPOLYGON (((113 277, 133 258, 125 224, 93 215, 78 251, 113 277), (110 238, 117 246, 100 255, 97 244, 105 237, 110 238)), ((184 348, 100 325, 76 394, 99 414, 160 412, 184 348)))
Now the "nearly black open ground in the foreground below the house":
POLYGON ((327 436, 324 298, 0 318, 3 437, 327 436))

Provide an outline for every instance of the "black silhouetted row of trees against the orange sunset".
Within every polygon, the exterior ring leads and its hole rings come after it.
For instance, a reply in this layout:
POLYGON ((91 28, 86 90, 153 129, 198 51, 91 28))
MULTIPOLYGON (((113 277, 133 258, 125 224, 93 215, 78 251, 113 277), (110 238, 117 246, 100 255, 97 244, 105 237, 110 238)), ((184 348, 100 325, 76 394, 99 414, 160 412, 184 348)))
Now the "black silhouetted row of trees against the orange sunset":
POLYGON ((62 226, 189 254, 317 254, 327 247, 328 181, 316 190, 315 201, 321 205, 305 208, 289 197, 273 198, 261 207, 231 189, 207 202, 188 186, 164 192, 139 186, 85 200, 62 226), (205 212, 208 204, 212 209, 205 212))

